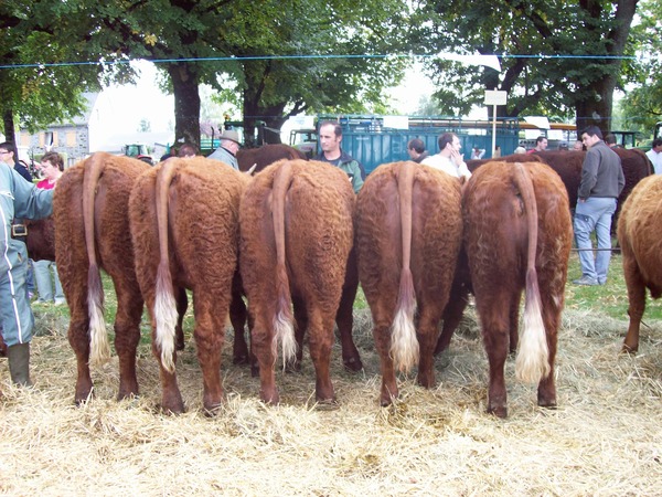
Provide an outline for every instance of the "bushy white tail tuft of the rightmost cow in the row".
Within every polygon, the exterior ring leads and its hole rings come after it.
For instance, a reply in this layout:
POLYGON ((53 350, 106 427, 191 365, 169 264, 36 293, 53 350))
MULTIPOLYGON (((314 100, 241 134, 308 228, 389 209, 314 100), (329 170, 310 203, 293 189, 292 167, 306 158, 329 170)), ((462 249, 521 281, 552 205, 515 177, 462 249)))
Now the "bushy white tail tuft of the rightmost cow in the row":
POLYGON ((515 376, 526 383, 538 383, 549 376, 549 349, 545 324, 541 313, 540 294, 526 295, 524 308, 524 331, 520 339, 517 358, 515 360, 515 376))

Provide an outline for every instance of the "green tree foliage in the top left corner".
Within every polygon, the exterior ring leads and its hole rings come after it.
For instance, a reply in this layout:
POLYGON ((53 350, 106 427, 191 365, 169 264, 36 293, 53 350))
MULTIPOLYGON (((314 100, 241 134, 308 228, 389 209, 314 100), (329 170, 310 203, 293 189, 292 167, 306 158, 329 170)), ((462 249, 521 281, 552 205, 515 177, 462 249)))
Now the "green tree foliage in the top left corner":
POLYGON ((34 131, 82 114, 82 94, 99 87, 102 65, 57 65, 89 53, 66 12, 62 2, 0 3, 0 112, 10 141, 17 124, 34 131))

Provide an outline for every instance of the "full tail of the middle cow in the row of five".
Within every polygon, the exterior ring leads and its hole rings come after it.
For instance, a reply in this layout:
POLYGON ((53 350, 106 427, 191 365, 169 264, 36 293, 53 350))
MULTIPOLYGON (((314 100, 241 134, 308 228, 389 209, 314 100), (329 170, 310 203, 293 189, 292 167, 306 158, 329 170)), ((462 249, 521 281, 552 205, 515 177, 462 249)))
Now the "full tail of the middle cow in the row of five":
POLYGON ((274 176, 271 212, 274 219, 274 239, 276 242, 276 315, 274 316, 274 341, 271 350, 277 356, 278 341, 282 348, 284 366, 297 355, 297 340, 290 308, 291 295, 286 267, 285 246, 285 198, 292 181, 292 167, 282 161, 274 176))

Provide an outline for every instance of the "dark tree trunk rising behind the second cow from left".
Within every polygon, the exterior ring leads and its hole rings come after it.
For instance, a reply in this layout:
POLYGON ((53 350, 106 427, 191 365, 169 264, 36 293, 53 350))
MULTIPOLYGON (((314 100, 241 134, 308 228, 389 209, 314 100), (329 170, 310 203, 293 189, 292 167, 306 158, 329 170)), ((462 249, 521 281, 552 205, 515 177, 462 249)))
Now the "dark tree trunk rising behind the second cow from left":
POLYGON ((192 64, 168 65, 174 91, 174 141, 200 148, 199 75, 192 64))

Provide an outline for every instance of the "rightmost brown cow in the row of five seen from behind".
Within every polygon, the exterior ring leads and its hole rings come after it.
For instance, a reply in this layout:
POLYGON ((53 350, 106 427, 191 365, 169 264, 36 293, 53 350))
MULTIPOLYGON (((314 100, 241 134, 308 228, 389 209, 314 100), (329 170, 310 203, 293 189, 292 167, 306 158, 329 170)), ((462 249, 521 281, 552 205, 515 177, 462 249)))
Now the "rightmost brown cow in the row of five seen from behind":
POLYGON ((538 383, 538 405, 556 405, 556 335, 573 240, 567 202, 558 175, 536 162, 485 163, 462 192, 465 247, 490 362, 488 412, 500 417, 508 415, 503 369, 509 346, 517 345, 524 288, 515 370, 538 383))

